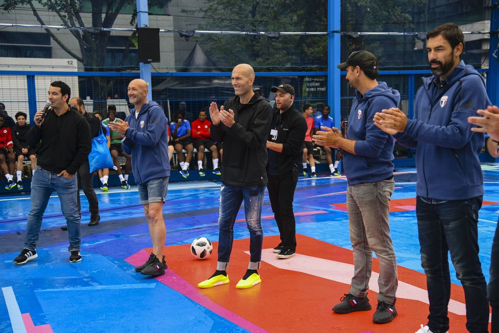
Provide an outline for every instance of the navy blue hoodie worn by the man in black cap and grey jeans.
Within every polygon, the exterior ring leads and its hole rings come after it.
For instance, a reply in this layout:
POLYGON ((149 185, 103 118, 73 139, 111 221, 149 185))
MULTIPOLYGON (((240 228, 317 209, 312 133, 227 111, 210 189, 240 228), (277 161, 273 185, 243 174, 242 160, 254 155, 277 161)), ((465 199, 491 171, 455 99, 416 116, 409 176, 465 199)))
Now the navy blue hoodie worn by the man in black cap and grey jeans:
POLYGON ((374 183, 393 176, 393 146, 395 140, 376 127, 373 117, 383 109, 397 107, 400 94, 397 90, 378 82, 362 96, 355 91, 348 117, 346 137, 356 140, 355 154, 347 151, 343 155, 343 168, 348 184, 374 183))

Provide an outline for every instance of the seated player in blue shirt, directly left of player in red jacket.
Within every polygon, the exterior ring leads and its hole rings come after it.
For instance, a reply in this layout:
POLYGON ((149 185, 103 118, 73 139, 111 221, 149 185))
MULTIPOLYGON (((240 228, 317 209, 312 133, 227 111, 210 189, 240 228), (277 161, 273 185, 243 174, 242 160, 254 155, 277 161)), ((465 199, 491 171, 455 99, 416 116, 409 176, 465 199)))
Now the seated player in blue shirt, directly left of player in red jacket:
POLYGON ((170 123, 173 147, 177 151, 177 157, 181 167, 180 174, 182 177, 187 178, 189 177, 189 163, 191 162, 194 151, 194 147, 191 142, 191 124, 189 123, 189 120, 184 119, 184 115, 182 113, 176 113, 174 118, 175 121, 170 123), (187 151, 185 161, 182 149, 187 151))

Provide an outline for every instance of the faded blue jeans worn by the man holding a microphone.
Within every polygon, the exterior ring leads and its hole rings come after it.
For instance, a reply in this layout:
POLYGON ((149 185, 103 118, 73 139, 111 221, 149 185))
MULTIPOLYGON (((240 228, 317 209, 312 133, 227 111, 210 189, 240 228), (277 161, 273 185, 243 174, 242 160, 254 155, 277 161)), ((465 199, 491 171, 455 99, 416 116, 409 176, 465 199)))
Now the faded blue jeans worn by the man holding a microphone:
POLYGON ((80 249, 81 235, 76 196, 78 191, 76 175, 73 178, 64 178, 64 176, 57 176, 56 173, 43 170, 39 166, 36 166, 36 172, 31 179, 31 210, 24 235, 24 249, 36 250, 41 220, 53 190, 59 196, 61 211, 66 218, 69 251, 80 249))

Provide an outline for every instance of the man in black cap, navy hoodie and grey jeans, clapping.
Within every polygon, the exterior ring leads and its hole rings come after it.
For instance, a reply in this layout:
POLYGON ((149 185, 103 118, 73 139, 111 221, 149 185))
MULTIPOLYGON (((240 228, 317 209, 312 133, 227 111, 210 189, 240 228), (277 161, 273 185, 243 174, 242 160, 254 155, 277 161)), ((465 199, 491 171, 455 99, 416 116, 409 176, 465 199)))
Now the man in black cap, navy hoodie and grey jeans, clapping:
POLYGON ((378 306, 374 323, 389 323, 397 316, 397 260, 390 238, 388 216, 394 190, 393 146, 395 140, 373 123, 382 109, 396 107, 400 94, 377 82, 378 61, 368 51, 350 54, 338 68, 346 69, 346 80, 355 89, 346 138, 335 127, 321 127, 313 136, 316 144, 343 150, 343 168, 348 180, 347 210, 353 249, 354 276, 350 291, 333 307, 347 314, 371 310, 367 289, 372 271, 372 252, 379 261, 378 306))

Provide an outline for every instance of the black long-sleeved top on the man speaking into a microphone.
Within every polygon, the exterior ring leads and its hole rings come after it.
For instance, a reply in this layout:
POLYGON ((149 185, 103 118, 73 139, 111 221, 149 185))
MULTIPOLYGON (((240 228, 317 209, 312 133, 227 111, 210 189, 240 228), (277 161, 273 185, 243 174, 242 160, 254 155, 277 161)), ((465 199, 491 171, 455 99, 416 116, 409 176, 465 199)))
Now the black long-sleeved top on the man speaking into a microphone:
POLYGON ((72 107, 60 116, 50 108, 41 127, 31 127, 26 134, 26 141, 30 147, 40 142, 36 164, 57 174, 62 170, 75 174, 92 150, 90 125, 72 107))

